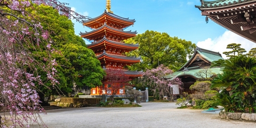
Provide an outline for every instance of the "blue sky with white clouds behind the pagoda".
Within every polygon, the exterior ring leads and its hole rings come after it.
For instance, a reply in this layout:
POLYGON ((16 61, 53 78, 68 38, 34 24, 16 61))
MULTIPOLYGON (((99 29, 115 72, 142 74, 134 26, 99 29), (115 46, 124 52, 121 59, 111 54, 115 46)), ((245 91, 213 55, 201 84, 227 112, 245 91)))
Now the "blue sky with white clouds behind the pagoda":
MULTIPOLYGON (((106 9, 106 0, 60 0, 68 3, 71 10, 84 16, 95 18, 106 9)), ((195 43, 202 49, 214 52, 230 51, 228 44, 237 43, 249 52, 256 43, 245 39, 209 19, 195 7, 201 5, 200 0, 112 0, 111 11, 120 17, 135 19, 133 26, 125 30, 137 31, 138 34, 146 30, 167 33, 171 37, 178 37, 195 43)), ((81 23, 72 20, 75 24, 75 34, 80 31, 91 31, 81 23)), ((90 42, 86 41, 86 44, 90 42)), ((226 55, 222 54, 226 59, 226 55)))

